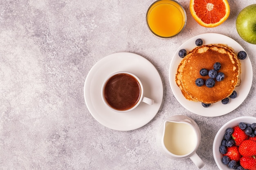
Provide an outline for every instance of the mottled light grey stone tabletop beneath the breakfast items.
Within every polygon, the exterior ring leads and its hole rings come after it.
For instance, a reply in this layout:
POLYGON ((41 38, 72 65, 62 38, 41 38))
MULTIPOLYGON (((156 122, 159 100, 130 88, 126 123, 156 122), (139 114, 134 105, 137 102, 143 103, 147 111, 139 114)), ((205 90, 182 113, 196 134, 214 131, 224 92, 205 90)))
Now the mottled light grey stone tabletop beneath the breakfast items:
POLYGON ((204 28, 193 20, 189 0, 184 31, 169 40, 153 36, 146 11, 153 0, 2 0, 0 2, 0 170, 196 170, 190 159, 168 159, 156 133, 172 115, 200 127, 197 151, 203 170, 218 169, 212 153, 216 132, 239 116, 256 116, 255 73, 248 97, 236 110, 203 117, 186 110, 168 80, 173 53, 189 38, 220 33, 247 51, 256 70, 256 48, 242 40, 235 22, 256 0, 229 0, 226 22, 204 28), (131 131, 111 130, 90 114, 83 86, 92 66, 106 55, 137 53, 161 76, 164 96, 155 117, 131 131))

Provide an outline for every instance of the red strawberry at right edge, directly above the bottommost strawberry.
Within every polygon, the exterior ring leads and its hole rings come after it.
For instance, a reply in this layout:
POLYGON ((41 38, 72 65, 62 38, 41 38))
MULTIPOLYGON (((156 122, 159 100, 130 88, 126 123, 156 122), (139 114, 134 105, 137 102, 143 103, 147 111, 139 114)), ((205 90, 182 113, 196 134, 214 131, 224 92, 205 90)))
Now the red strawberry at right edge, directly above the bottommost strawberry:
POLYGON ((239 147, 239 152, 245 157, 255 156, 256 155, 256 141, 245 140, 239 147))

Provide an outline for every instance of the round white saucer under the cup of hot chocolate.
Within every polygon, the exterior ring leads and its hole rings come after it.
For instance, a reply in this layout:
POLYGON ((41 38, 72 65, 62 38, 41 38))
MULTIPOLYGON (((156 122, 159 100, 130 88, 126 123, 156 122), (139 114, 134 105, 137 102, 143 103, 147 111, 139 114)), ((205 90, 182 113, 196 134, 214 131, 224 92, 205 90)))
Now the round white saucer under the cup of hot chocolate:
POLYGON ((84 85, 85 103, 91 115, 103 126, 114 130, 134 130, 152 120, 163 99, 162 79, 155 66, 134 53, 114 53, 103 57, 88 73, 84 85), (144 96, 155 100, 153 106, 141 103, 128 113, 110 110, 101 98, 101 86, 108 75, 128 71, 139 77, 144 87, 144 96))

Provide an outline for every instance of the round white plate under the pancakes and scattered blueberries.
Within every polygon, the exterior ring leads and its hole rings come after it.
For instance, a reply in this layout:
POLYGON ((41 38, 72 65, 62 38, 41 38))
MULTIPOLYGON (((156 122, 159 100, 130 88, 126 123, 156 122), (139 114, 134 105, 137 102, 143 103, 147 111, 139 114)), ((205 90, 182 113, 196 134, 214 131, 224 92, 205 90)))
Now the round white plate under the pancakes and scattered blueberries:
POLYGON ((210 107, 204 108, 201 102, 193 102, 185 99, 182 95, 180 88, 176 85, 175 82, 175 74, 177 71, 177 67, 180 64, 182 58, 179 57, 178 52, 180 49, 186 49, 186 51, 191 51, 196 47, 195 40, 201 38, 204 44, 227 44, 231 48, 234 49, 235 53, 239 51, 245 51, 238 42, 235 40, 221 34, 217 33, 205 33, 201 35, 197 35, 186 42, 184 42, 179 49, 174 53, 173 59, 171 61, 170 70, 169 70, 169 81, 171 84, 171 89, 173 91, 176 99, 186 108, 187 110, 201 116, 206 117, 216 117, 225 115, 233 110, 235 110, 240 104, 243 103, 245 98, 247 97, 251 86, 252 86, 252 63, 247 55, 245 60, 240 60, 241 62, 241 84, 239 87, 235 88, 235 91, 238 93, 238 96, 235 99, 230 99, 228 104, 222 104, 220 102, 216 102, 211 104, 210 107))

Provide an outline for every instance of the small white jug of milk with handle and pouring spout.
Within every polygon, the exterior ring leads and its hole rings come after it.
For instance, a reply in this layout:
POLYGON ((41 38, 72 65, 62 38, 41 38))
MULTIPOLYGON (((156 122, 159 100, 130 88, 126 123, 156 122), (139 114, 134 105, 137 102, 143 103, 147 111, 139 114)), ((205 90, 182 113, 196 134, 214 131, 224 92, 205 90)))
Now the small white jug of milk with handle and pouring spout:
POLYGON ((200 140, 198 125, 183 115, 168 118, 157 133, 157 144, 165 156, 177 160, 190 158, 199 169, 204 166, 196 153, 200 140))

